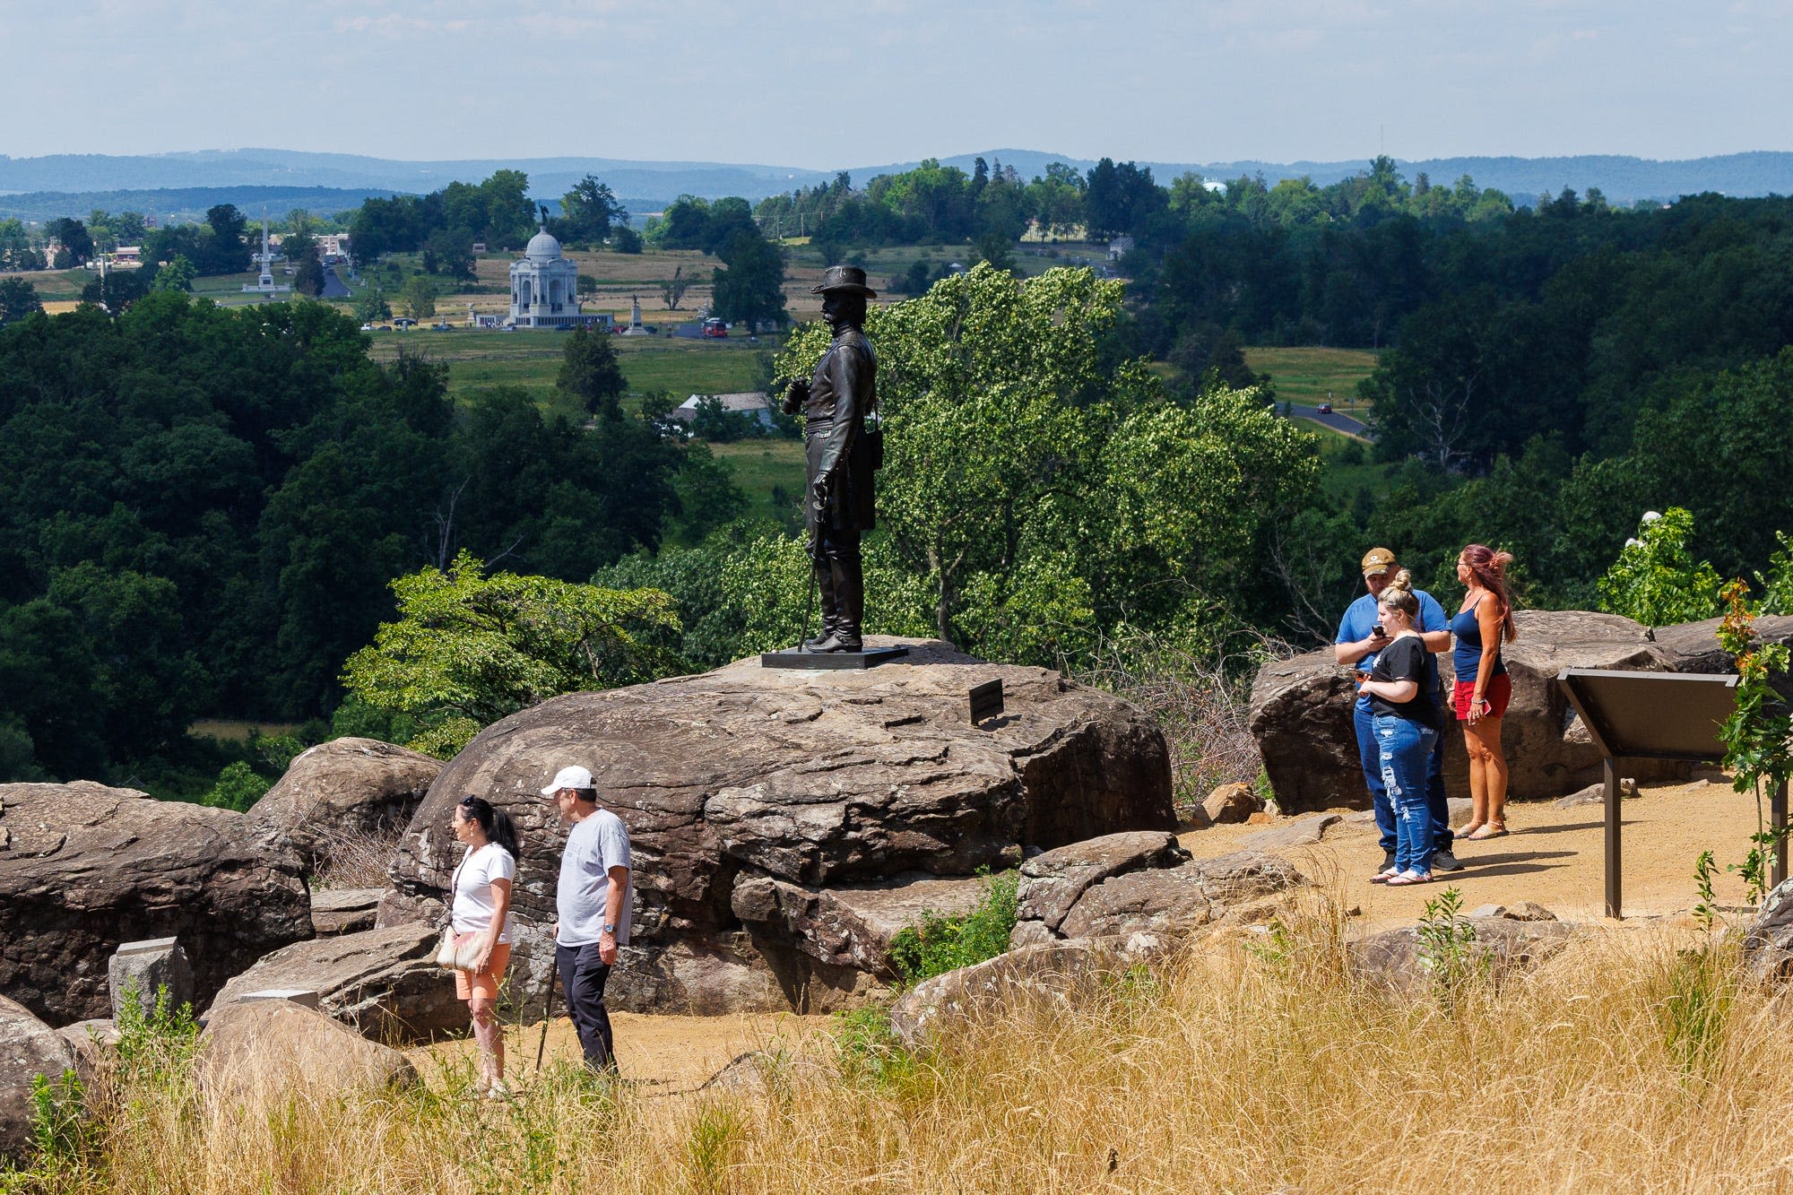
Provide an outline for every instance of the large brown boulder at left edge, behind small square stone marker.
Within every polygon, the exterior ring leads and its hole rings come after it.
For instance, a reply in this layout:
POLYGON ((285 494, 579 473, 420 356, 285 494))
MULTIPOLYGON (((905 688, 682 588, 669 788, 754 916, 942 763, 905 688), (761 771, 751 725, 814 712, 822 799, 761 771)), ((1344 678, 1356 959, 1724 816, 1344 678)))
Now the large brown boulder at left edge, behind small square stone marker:
POLYGON ((0 990, 50 1025, 111 1016, 120 942, 178 937, 199 1003, 312 937, 299 858, 244 815, 88 781, 0 784, 0 990))

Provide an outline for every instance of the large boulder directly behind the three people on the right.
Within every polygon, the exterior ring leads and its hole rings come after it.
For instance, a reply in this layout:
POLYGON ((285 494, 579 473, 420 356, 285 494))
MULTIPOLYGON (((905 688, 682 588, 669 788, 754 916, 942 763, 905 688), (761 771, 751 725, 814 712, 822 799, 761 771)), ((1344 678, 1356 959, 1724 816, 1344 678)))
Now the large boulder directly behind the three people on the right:
MULTIPOLYGON (((1506 644, 1504 657, 1513 702, 1501 736, 1511 766, 1508 791, 1515 798, 1562 797, 1598 781, 1601 757, 1556 685, 1556 673, 1565 667, 1660 673, 1673 664, 1644 626, 1615 614, 1520 610, 1513 617, 1519 639, 1506 644)), ((1438 660, 1449 691, 1451 653, 1438 660)), ((1252 685, 1252 737, 1284 813, 1368 804, 1352 730, 1354 696, 1350 673, 1334 660, 1332 648, 1259 671, 1252 685)), ((1689 768, 1673 761, 1626 761, 1626 773, 1644 781, 1684 781, 1689 768)), ((1468 791, 1468 757, 1451 712, 1445 788, 1468 791)))

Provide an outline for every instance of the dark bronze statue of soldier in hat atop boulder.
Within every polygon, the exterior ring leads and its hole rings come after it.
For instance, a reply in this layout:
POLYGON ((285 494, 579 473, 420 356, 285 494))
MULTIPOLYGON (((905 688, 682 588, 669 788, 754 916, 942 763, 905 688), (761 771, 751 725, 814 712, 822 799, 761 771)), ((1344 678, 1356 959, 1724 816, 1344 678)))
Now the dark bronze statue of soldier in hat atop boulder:
POLYGON ((859 536, 877 520, 871 474, 884 463, 877 434, 866 432, 866 416, 879 406, 877 357, 864 332, 866 300, 877 292, 857 266, 830 266, 810 294, 821 294, 821 318, 834 328, 834 343, 814 377, 791 382, 784 398, 785 414, 803 413, 803 524, 821 592, 821 635, 805 639, 803 650, 862 651, 866 580, 859 536))

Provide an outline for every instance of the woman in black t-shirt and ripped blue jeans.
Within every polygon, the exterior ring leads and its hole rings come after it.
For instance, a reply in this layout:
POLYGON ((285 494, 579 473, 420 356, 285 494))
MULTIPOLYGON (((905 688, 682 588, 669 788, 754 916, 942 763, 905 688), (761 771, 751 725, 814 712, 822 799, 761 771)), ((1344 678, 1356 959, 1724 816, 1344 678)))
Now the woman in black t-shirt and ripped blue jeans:
POLYGON ((1375 657, 1375 669, 1357 673, 1357 689, 1370 698, 1382 784, 1395 809, 1395 865, 1377 876, 1388 885, 1420 885, 1433 877, 1433 822, 1425 809, 1425 764, 1438 741, 1438 705, 1425 691, 1425 642, 1413 623, 1420 601, 1413 576, 1402 569, 1377 599, 1382 630, 1393 639, 1375 657))

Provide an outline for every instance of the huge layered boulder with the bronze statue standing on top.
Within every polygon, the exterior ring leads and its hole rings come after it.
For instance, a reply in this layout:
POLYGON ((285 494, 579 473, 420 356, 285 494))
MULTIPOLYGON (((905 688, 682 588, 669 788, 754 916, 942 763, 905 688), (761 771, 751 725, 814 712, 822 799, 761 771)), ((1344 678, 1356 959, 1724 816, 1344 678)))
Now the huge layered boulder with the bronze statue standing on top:
POLYGON ((909 655, 870 671, 741 660, 554 698, 488 727, 412 818, 394 865, 400 894, 441 897, 461 858, 448 831, 461 795, 509 809, 524 833, 513 992, 533 1003, 565 843, 540 789, 559 766, 586 764, 635 852, 635 938, 610 981, 613 1007, 714 1008, 728 992, 733 1008, 784 1008, 803 1003, 793 985, 810 978, 857 980, 823 974, 834 964, 821 955, 837 947, 789 951, 782 931, 742 949, 737 935, 791 917, 744 920, 737 883, 821 890, 905 872, 970 876, 1018 863, 1024 847, 1174 827, 1164 736, 1137 707, 941 642, 904 642, 909 655), (990 680, 1002 682, 1004 716, 974 727, 968 691, 990 680))

